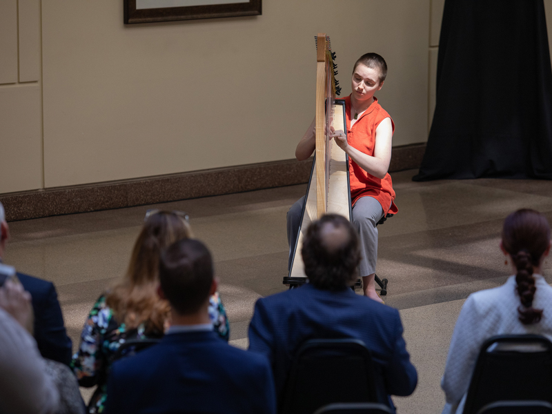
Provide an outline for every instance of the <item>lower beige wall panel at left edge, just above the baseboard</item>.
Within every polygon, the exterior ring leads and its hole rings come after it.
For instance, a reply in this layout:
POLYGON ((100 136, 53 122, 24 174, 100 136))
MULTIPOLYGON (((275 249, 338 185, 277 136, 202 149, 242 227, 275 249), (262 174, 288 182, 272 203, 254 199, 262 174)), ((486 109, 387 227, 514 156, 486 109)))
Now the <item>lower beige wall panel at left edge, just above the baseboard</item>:
POLYGON ((39 85, 0 87, 0 194, 42 186, 39 85))

